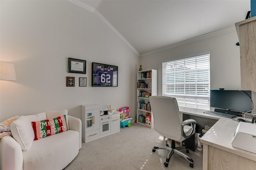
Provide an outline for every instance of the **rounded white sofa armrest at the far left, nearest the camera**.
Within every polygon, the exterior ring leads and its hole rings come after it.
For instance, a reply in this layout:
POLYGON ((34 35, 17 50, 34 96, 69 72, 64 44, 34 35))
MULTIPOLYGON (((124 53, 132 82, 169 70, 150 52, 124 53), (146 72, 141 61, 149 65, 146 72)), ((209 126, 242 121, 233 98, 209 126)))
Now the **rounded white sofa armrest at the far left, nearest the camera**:
POLYGON ((11 136, 0 139, 1 169, 22 170, 23 154, 20 145, 11 136))

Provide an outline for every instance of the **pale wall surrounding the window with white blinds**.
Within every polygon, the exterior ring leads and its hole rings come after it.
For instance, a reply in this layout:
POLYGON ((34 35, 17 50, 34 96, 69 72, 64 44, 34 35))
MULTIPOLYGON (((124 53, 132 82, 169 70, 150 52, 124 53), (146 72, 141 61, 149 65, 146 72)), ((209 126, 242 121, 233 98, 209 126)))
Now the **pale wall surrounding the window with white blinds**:
MULTIPOLYGON (((236 31, 158 52, 140 59, 142 68, 158 70, 158 95, 162 95, 162 61, 179 59, 210 51, 210 88, 242 90, 240 78, 240 49, 236 46, 236 31)), ((252 92, 256 101, 255 92, 252 92)), ((256 102, 254 102, 256 103, 256 102)), ((255 110, 255 109, 254 109, 255 110)))

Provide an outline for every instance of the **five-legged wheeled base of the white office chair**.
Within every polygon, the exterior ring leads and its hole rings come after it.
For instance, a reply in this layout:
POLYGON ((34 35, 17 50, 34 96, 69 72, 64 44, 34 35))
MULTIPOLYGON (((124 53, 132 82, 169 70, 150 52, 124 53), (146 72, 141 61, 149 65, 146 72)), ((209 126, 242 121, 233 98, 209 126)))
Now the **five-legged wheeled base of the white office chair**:
POLYGON ((167 147, 162 147, 162 146, 154 147, 152 149, 153 152, 156 152, 156 150, 158 150, 158 149, 164 149, 164 150, 169 151, 169 154, 166 158, 166 162, 164 162, 164 166, 168 167, 172 155, 176 153, 176 154, 179 154, 180 156, 182 156, 183 158, 185 158, 186 160, 188 160, 188 162, 190 162, 190 164, 189 164, 190 167, 192 167, 192 168, 194 167, 194 161, 190 157, 188 157, 186 154, 179 151, 179 150, 182 150, 182 149, 186 149, 186 152, 189 153, 189 150, 186 147, 175 147, 175 141, 174 140, 172 140, 172 144, 170 144, 169 141, 166 141, 166 146, 167 147))

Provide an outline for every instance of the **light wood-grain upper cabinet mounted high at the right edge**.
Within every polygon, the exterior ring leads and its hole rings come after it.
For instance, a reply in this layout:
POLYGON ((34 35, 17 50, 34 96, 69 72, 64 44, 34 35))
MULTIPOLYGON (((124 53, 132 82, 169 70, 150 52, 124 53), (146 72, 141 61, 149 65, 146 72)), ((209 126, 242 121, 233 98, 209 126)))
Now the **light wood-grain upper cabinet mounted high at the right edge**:
POLYGON ((241 88, 256 92, 256 17, 235 26, 240 44, 241 88))

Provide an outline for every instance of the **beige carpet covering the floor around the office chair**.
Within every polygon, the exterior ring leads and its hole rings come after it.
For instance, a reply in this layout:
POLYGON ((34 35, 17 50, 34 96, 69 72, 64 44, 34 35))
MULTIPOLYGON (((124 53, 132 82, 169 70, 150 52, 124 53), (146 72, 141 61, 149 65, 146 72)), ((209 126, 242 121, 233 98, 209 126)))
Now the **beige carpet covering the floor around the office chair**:
MULTIPOLYGON (((188 156, 194 160, 194 168, 179 155, 174 154, 166 168, 168 151, 152 152, 156 145, 166 146, 163 137, 154 129, 132 123, 119 133, 82 143, 78 156, 65 170, 202 170, 202 150, 199 145, 188 156)), ((186 154, 186 150, 182 150, 186 154)))

